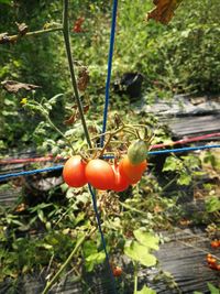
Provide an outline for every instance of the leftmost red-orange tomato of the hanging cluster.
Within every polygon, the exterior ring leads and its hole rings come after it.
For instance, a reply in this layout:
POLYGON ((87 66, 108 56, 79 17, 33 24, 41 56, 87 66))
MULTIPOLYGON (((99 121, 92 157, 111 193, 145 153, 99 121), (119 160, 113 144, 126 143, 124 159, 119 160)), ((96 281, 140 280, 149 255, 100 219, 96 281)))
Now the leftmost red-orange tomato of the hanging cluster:
POLYGON ((79 155, 67 160, 63 170, 63 178, 70 187, 82 187, 87 183, 85 175, 86 162, 79 155))

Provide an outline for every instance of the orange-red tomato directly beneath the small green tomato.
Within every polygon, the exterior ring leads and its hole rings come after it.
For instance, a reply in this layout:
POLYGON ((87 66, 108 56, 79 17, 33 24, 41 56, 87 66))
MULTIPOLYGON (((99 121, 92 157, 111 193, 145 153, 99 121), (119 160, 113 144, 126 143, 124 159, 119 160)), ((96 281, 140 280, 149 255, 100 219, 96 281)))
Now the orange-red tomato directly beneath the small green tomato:
POLYGON ((134 165, 130 162, 129 157, 125 156, 119 163, 119 171, 122 175, 127 176, 131 184, 135 184, 141 179, 146 165, 146 160, 134 165))

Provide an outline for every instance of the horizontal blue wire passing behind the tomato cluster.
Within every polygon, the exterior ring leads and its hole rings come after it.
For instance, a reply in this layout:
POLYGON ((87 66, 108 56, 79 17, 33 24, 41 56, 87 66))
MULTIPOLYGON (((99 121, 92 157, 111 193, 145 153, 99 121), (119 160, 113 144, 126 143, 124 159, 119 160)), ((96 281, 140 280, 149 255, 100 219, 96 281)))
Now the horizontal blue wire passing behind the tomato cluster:
MULTIPOLYGON (((182 152, 188 152, 188 151, 197 151, 197 150, 205 150, 205 149, 215 149, 220 148, 219 145, 201 145, 201 146, 193 146, 193 148, 179 148, 179 149, 165 149, 165 150, 157 150, 157 151, 150 151, 147 152, 148 155, 160 155, 160 154, 167 154, 167 153, 182 153, 182 152)), ((105 155, 103 159, 111 160, 114 156, 112 155, 105 155)), ((40 168, 40 170, 32 170, 32 171, 25 171, 25 172, 19 172, 19 173, 12 173, 12 174, 4 174, 0 175, 0 182, 10 178, 10 177, 16 177, 16 176, 25 176, 25 175, 34 175, 38 173, 47 173, 52 171, 59 171, 64 167, 64 165, 55 165, 46 168, 40 168)))

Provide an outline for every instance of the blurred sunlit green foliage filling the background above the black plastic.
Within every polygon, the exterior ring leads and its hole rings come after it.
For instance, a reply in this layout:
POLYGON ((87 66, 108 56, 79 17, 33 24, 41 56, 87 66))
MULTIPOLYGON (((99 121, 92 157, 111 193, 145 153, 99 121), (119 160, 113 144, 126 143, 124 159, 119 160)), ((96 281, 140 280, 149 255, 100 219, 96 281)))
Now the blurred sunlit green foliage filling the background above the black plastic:
MULTIPOLYGON (((86 18, 86 33, 76 35, 72 32, 74 58, 88 66, 90 84, 87 95, 91 105, 100 106, 101 113, 111 1, 70 1, 69 7, 70 28, 77 17, 86 18)), ((125 72, 141 72, 145 77, 146 101, 152 94, 162 97, 176 92, 218 94, 220 2, 185 0, 167 26, 144 21, 152 8, 150 0, 120 1, 112 81, 125 72)), ((15 34, 15 22, 25 22, 30 31, 61 23, 62 1, 1 1, 0 11, 3 12, 0 13, 1 32, 15 34)), ((20 92, 14 96, 0 90, 0 146, 18 148, 33 142, 32 134, 41 119, 22 109, 20 101, 26 96, 33 98, 34 95, 40 101, 42 97, 50 99, 58 92, 65 94, 52 112, 57 126, 64 130, 65 107, 73 98, 62 33, 24 37, 14 45, 1 45, 0 56, 1 81, 14 79, 42 87, 31 95, 20 92)), ((113 95, 117 109, 124 102, 120 104, 119 99, 113 95)), ((53 131, 50 135, 57 139, 53 131)))

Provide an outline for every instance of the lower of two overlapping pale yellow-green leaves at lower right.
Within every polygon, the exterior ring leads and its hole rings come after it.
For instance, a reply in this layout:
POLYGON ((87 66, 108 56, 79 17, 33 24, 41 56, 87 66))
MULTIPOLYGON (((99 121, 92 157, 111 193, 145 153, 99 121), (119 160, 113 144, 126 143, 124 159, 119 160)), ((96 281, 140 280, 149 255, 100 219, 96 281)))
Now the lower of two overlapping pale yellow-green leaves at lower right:
POLYGON ((124 247, 124 253, 132 260, 139 261, 142 265, 153 266, 156 264, 156 258, 148 253, 148 250, 145 246, 132 241, 127 243, 124 247))

